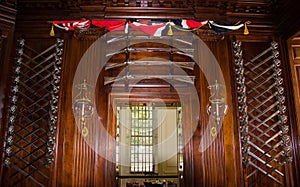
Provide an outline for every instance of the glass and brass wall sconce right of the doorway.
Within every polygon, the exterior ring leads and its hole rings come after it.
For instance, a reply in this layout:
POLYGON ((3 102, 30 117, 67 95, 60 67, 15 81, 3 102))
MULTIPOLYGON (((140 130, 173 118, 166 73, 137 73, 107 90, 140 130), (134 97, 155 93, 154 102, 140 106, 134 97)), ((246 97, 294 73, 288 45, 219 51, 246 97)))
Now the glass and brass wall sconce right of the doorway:
POLYGON ((223 93, 224 87, 225 86, 218 83, 217 80, 213 85, 208 86, 211 96, 209 97, 210 104, 207 106, 207 113, 214 119, 214 125, 210 129, 212 137, 217 135, 217 126, 223 123, 223 117, 226 115, 228 110, 228 105, 225 102, 223 93))

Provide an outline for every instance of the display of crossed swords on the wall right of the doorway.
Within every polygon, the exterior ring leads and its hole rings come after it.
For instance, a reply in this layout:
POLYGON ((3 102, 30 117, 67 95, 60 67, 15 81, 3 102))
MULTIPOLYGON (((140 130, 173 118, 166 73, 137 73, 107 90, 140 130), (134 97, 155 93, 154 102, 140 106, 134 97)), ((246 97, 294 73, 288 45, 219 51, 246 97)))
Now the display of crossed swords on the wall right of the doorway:
POLYGON ((240 41, 233 46, 245 185, 285 186, 292 158, 278 44, 259 53, 240 41))

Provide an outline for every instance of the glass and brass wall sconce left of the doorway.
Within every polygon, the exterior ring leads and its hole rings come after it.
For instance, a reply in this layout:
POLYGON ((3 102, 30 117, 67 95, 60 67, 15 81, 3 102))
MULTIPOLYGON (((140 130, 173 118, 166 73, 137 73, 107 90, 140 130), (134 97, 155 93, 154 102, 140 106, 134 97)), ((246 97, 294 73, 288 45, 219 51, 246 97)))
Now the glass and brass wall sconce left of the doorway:
POLYGON ((75 117, 79 118, 82 136, 86 137, 89 133, 86 127, 86 119, 91 117, 94 112, 94 106, 89 95, 91 86, 84 80, 83 83, 78 84, 76 88, 79 89, 79 94, 75 97, 73 113, 75 117))

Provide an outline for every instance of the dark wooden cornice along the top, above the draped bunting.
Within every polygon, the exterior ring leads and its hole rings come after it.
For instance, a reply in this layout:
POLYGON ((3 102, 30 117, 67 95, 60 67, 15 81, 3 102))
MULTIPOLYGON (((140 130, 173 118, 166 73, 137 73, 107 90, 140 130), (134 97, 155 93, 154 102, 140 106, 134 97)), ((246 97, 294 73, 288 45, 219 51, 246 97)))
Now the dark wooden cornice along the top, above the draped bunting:
MULTIPOLYGON (((17 21, 66 19, 196 19, 251 21, 260 31, 295 33, 299 0, 0 0, 17 21)), ((0 13, 1 19, 1 13, 0 13)))

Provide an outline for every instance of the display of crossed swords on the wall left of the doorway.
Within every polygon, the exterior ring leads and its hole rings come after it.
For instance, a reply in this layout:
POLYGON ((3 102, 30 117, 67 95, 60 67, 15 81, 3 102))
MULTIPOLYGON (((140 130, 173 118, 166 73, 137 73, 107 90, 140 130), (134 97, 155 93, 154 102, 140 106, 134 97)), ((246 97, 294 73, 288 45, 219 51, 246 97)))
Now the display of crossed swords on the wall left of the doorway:
POLYGON ((17 58, 4 145, 6 185, 48 186, 54 162, 63 40, 42 52, 24 39, 17 58))

